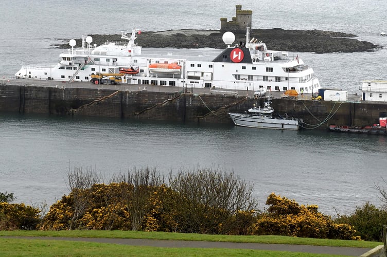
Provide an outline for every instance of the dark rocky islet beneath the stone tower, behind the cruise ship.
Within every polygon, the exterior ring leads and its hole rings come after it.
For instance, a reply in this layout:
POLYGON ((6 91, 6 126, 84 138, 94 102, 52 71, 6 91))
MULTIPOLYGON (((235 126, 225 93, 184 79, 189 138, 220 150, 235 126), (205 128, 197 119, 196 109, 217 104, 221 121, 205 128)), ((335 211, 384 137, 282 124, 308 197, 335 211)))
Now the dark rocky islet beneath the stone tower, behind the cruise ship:
MULTIPOLYGON (((235 42, 245 42, 245 33, 234 31, 235 42)), ((223 49, 223 31, 220 30, 168 30, 143 31, 137 37, 137 44, 142 47, 170 48, 217 48, 223 49)), ((256 38, 266 43, 270 50, 292 52, 362 52, 383 48, 366 41, 359 41, 354 34, 323 30, 284 30, 252 29, 250 38, 256 38)), ((103 44, 106 41, 121 41, 120 34, 92 34, 93 44, 103 44)), ((68 42, 69 39, 62 39, 68 42)), ((81 39, 76 39, 81 42, 81 39)), ((78 44, 79 45, 79 44, 78 44)), ((68 43, 55 45, 59 48, 69 48, 68 43)))

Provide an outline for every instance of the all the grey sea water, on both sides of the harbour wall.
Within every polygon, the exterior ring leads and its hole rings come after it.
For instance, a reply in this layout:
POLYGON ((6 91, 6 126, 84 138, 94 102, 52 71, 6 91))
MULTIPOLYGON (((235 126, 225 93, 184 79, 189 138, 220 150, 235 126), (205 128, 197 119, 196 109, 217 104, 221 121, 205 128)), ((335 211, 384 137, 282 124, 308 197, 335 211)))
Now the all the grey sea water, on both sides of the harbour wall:
MULTIPOLYGON (((219 29, 235 5, 253 11, 253 28, 320 29, 358 35, 387 45, 387 2, 220 1, 175 2, 0 0, 0 76, 22 63, 49 65, 61 50, 52 44, 82 35, 143 31, 219 29)), ((254 36, 254 35, 252 35, 254 36)), ((172 39, 173 40, 173 39, 172 39)), ((220 39, 221 40, 221 39, 220 39)), ((78 42, 77 42, 78 43, 78 42)), ((80 42, 78 43, 80 44, 80 42)), ((387 50, 315 54, 300 52, 322 87, 358 93, 363 80, 387 80, 387 50)), ((385 173, 387 138, 317 131, 272 131, 161 122, 46 117, 0 113, 0 192, 17 202, 50 205, 63 194, 66 173, 93 167, 108 182, 132 167, 167 174, 181 167, 222 166, 254 183, 261 208, 271 192, 346 214, 370 201, 380 205, 375 183, 385 173)))

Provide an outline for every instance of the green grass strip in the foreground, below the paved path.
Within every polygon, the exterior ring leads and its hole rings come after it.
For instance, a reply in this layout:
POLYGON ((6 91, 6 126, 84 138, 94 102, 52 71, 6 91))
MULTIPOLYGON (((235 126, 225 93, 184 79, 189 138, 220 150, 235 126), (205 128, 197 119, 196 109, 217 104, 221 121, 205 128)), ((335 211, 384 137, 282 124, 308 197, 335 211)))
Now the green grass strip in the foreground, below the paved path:
POLYGON ((287 251, 215 248, 163 248, 90 242, 0 237, 1 256, 341 256, 287 251))

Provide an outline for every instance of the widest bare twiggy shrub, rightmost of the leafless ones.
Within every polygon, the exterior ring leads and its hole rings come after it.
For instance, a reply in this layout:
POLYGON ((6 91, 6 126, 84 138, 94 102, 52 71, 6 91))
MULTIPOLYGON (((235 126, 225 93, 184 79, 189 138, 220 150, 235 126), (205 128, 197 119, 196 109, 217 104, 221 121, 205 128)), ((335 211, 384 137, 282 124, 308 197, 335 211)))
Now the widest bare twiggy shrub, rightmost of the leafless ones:
POLYGON ((253 222, 253 187, 224 169, 198 168, 169 175, 173 197, 163 208, 172 231, 202 234, 245 234, 253 222))

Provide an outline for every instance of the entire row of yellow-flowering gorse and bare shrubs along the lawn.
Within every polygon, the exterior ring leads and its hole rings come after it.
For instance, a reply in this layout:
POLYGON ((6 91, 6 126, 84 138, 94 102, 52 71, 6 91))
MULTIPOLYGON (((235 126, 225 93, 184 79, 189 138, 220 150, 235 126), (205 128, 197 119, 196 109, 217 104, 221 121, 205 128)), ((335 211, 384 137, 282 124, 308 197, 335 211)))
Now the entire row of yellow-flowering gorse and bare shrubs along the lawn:
MULTIPOLYGON (((259 211, 253 186, 224 168, 180 169, 167 183, 155 169, 129 169, 106 185, 92 169, 68 173, 71 192, 39 210, 11 205, 13 194, 1 194, 0 229, 142 230, 227 235, 381 241, 384 210, 365 204, 350 216, 331 216, 316 205, 300 205, 274 193, 259 211)), ((387 194, 385 194, 387 197, 387 194)))

